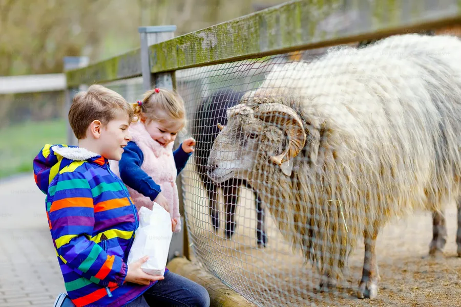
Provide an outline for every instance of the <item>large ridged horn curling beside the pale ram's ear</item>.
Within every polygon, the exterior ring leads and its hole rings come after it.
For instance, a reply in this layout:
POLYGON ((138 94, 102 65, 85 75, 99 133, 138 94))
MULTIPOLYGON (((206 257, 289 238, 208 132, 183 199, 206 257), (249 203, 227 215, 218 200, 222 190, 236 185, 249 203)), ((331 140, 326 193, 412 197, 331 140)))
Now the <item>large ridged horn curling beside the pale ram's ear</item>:
POLYGON ((257 106, 258 117, 281 125, 286 131, 289 142, 279 156, 271 156, 270 161, 277 165, 298 155, 306 143, 306 133, 298 114, 289 106, 280 103, 265 103, 257 106))

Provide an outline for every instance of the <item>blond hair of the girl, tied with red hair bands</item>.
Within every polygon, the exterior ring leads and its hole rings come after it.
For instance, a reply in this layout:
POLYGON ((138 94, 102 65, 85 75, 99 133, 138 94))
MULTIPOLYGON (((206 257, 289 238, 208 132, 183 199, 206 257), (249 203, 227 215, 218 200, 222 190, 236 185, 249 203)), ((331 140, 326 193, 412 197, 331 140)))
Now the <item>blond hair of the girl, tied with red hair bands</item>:
POLYGON ((185 108, 182 97, 175 91, 166 89, 154 89, 144 93, 141 104, 138 102, 132 104, 133 113, 138 119, 164 121, 164 120, 182 120, 185 126, 185 108), (162 116, 161 112, 164 115, 162 116))

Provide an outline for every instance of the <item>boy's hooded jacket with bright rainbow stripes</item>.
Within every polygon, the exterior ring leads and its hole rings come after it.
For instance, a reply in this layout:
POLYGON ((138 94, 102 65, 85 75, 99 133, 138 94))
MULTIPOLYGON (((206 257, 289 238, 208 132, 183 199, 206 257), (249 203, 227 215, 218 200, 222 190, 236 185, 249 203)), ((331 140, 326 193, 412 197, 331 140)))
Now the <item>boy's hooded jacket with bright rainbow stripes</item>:
POLYGON ((149 289, 155 282, 124 281, 139 216, 108 160, 85 148, 47 144, 33 167, 47 194, 48 225, 72 302, 122 306, 149 289))

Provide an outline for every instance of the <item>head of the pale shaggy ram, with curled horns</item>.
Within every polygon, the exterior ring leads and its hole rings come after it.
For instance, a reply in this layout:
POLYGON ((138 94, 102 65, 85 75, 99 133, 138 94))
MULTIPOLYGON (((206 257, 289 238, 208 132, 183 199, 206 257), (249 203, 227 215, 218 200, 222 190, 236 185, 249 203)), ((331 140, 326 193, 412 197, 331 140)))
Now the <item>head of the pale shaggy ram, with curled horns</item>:
POLYGON ((262 165, 290 176, 292 159, 303 149, 306 138, 313 145, 309 156, 316 158, 319 131, 305 127, 297 112, 286 105, 287 99, 270 91, 249 92, 240 104, 227 110, 227 125, 218 124, 221 132, 208 159, 212 180, 250 179, 255 167, 261 169, 258 166, 262 165))

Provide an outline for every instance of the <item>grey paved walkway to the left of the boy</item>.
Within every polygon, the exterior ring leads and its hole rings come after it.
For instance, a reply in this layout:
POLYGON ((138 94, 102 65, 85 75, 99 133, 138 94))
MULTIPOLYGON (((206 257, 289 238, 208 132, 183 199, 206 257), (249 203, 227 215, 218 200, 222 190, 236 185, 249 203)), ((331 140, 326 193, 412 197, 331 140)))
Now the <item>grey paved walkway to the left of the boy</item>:
POLYGON ((52 306, 64 280, 33 175, 0 181, 0 307, 52 306))

